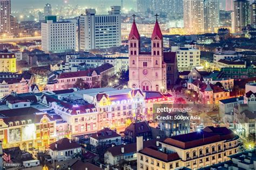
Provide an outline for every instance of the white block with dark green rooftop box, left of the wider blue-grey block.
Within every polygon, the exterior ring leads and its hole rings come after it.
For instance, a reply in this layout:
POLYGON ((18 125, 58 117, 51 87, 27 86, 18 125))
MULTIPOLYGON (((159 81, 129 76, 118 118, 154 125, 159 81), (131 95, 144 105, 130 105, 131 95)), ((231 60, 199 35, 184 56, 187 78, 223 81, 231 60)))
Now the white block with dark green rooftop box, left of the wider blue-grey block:
POLYGON ((76 50, 76 21, 57 22, 49 16, 42 26, 42 49, 45 52, 76 50))

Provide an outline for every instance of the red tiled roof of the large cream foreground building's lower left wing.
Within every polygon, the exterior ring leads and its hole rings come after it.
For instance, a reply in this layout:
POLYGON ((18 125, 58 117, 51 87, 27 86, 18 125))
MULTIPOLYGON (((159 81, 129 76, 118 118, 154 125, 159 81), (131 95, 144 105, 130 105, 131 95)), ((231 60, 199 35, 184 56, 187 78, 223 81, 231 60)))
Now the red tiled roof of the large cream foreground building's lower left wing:
POLYGON ((146 147, 146 148, 142 149, 142 151, 140 151, 140 153, 149 155, 150 157, 153 157, 158 160, 165 161, 165 162, 170 162, 170 161, 180 159, 177 152, 167 154, 167 153, 158 151, 157 148, 155 148, 155 147, 146 147))

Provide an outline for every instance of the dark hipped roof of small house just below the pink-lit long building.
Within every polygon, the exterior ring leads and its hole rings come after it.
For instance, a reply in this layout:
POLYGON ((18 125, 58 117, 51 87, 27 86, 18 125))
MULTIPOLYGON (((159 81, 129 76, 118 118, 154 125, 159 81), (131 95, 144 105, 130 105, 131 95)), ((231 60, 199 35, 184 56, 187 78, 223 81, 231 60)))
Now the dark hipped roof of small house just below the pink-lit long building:
POLYGON ((121 137, 121 135, 117 134, 116 131, 111 130, 108 127, 105 127, 103 130, 98 131, 97 133, 93 133, 91 138, 93 139, 109 139, 109 138, 116 138, 121 137))

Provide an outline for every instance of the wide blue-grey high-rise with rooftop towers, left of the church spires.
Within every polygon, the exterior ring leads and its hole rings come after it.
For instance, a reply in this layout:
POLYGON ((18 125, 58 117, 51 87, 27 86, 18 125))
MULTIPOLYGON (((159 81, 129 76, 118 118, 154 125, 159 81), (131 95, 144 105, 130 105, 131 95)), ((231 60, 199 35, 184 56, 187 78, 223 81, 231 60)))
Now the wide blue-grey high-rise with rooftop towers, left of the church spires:
POLYGON ((120 46, 120 6, 111 6, 108 15, 95 14, 95 9, 86 9, 86 15, 81 15, 78 19, 79 50, 120 46))

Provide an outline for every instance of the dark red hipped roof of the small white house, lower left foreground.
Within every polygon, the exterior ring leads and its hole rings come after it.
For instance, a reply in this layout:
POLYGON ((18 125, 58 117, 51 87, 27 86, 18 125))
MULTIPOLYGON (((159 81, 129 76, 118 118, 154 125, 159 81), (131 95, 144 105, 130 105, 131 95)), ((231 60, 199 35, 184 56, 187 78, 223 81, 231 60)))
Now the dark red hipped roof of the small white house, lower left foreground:
POLYGON ((69 138, 63 138, 49 145, 49 149, 52 151, 64 151, 67 149, 79 148, 81 147, 77 142, 70 140, 69 138), (57 148, 56 145, 57 144, 57 148))

